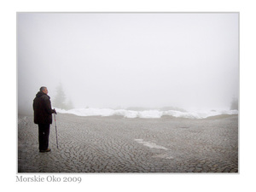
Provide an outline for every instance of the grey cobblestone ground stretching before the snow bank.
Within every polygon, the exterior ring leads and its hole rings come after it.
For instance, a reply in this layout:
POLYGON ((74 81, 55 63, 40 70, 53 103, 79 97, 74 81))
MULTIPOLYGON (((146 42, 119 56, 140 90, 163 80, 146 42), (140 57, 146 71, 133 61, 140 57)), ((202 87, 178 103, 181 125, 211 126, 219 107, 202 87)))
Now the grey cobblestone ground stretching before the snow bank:
POLYGON ((238 117, 124 119, 57 116, 49 153, 38 125, 18 118, 18 172, 238 172, 238 117))

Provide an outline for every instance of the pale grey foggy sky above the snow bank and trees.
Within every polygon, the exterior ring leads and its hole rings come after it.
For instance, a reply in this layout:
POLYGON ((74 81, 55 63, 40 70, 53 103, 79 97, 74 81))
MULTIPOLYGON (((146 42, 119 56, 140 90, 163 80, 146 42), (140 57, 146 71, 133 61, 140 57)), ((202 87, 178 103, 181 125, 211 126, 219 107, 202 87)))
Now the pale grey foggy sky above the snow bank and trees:
POLYGON ((19 113, 62 84, 74 108, 230 108, 239 15, 17 14, 19 113))

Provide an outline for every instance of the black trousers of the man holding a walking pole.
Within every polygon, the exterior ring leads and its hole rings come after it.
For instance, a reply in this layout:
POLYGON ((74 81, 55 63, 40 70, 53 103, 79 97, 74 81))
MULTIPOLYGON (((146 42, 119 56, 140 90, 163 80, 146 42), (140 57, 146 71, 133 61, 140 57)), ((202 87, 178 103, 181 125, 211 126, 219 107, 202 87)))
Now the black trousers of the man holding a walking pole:
POLYGON ((38 124, 39 150, 46 150, 49 145, 49 124, 38 124))

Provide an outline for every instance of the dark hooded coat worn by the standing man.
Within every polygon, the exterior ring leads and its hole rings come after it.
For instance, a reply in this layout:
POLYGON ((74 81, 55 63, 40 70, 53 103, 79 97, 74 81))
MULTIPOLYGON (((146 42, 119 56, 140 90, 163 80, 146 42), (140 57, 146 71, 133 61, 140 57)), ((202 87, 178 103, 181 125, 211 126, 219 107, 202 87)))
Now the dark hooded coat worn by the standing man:
POLYGON ((35 124, 52 124, 52 113, 50 97, 39 91, 33 101, 34 123, 35 124))

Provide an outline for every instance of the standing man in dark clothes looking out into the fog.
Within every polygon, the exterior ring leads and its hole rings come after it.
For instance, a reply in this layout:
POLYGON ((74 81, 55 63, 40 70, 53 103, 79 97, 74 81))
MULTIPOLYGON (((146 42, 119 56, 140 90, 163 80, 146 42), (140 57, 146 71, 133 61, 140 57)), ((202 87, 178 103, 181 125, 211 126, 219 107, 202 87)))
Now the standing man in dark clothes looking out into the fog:
POLYGON ((52 113, 56 113, 51 108, 50 97, 47 95, 46 87, 41 87, 34 101, 34 123, 38 124, 39 152, 49 152, 49 125, 52 124, 52 113))

